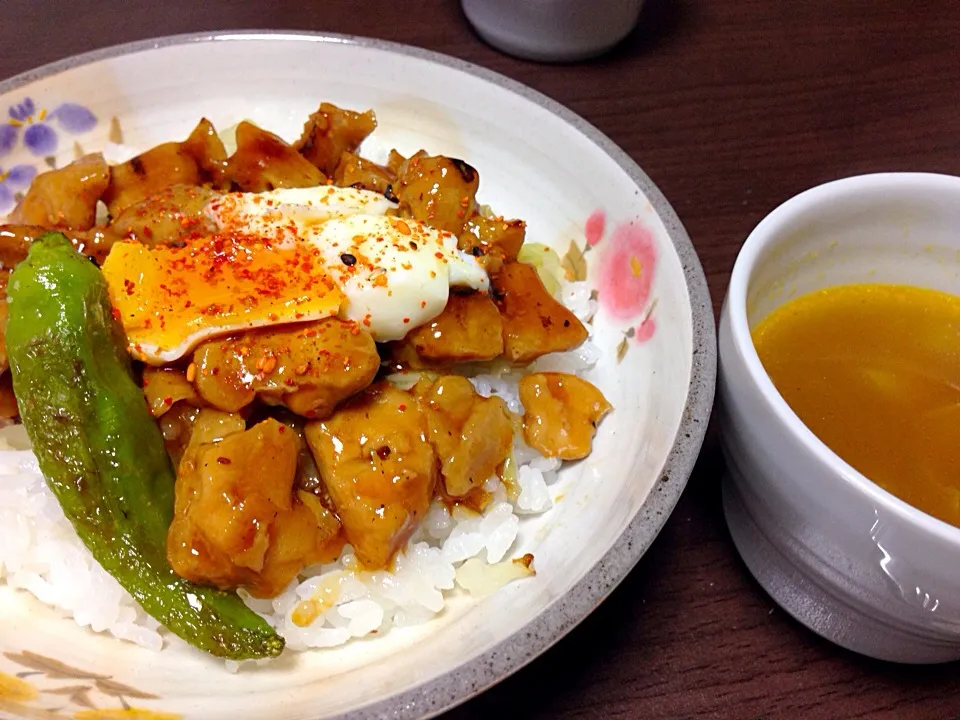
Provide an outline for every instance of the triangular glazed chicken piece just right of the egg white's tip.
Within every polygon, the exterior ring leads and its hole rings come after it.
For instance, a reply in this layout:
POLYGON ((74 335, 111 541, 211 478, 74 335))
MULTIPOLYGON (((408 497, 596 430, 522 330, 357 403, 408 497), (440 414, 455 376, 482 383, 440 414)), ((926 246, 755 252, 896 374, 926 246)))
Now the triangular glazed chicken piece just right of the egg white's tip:
POLYGON ((583 323, 554 299, 532 265, 506 263, 490 282, 503 319, 503 354, 510 362, 526 364, 587 339, 583 323))

